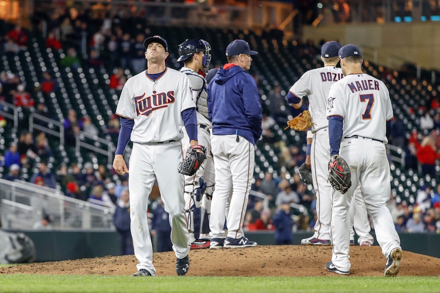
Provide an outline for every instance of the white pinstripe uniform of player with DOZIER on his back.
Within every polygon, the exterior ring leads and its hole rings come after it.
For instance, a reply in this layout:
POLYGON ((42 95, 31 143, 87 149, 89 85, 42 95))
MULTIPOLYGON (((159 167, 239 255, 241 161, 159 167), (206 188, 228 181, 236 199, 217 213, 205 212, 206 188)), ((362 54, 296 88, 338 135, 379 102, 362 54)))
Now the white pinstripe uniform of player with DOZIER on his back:
MULTIPOLYGON (((313 180, 313 188, 316 192, 316 213, 318 219, 314 226, 314 234, 310 238, 330 240, 330 219, 331 219, 331 185, 328 181, 328 161, 330 159, 329 143, 329 121, 327 120, 326 107, 330 86, 343 78, 341 68, 325 66, 308 70, 293 84, 289 92, 298 98, 308 96, 310 115, 314 126, 312 126, 312 144, 310 151, 310 163, 313 180)), ((373 243, 373 236, 370 235, 370 223, 368 221, 367 209, 362 199, 360 188, 355 192, 356 207, 350 209, 352 226, 355 224, 359 240, 373 243), (354 212, 356 208, 356 212, 354 212), (353 219, 354 217, 354 219, 353 219)), ((353 200, 354 203, 354 200, 353 200)), ((309 239, 309 238, 307 238, 309 239)), ((310 244, 307 239, 302 244, 310 244)), ((354 239, 354 232, 352 238, 354 239)), ((361 243, 361 241, 359 241, 361 243)), ((316 242, 315 244, 320 244, 316 242)))

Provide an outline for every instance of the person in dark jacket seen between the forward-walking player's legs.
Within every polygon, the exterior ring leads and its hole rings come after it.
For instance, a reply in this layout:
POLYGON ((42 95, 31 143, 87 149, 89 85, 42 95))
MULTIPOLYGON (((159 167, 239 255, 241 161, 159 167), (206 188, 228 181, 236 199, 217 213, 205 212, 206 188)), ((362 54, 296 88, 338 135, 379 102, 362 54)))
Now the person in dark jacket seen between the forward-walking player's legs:
POLYGON ((171 226, 168 220, 168 213, 163 207, 162 200, 158 199, 157 207, 153 210, 151 221, 151 235, 157 239, 157 252, 172 251, 171 226))

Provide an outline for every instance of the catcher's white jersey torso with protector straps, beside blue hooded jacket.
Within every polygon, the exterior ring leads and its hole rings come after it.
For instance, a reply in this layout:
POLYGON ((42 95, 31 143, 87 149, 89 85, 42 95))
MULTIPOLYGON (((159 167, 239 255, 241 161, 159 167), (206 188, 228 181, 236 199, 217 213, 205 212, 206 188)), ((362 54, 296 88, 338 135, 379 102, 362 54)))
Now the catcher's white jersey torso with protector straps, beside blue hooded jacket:
POLYGON ((208 119, 208 93, 206 92, 207 86, 205 79, 203 76, 187 67, 180 68, 180 72, 185 73, 188 76, 192 86, 193 102, 197 106, 196 114, 198 125, 206 125, 208 128, 212 128, 212 123, 208 119))

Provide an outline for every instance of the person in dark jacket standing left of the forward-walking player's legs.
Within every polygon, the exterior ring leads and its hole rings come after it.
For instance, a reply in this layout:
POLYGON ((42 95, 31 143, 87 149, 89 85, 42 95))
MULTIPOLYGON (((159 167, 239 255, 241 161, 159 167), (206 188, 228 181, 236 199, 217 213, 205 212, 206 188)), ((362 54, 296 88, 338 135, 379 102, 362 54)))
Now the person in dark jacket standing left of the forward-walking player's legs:
POLYGON ((121 192, 121 198, 114 211, 113 224, 119 234, 121 255, 134 254, 132 233, 130 232, 130 195, 128 189, 121 192))

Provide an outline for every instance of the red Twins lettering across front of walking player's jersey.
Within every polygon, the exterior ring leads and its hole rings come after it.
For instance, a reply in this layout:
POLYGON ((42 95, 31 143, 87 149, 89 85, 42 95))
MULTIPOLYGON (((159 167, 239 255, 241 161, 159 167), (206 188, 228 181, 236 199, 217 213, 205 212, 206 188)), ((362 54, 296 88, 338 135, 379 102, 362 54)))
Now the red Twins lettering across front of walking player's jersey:
POLYGON ((145 93, 142 96, 134 97, 137 116, 149 116, 153 111, 166 108, 169 104, 173 104, 174 102, 175 98, 173 90, 167 93, 158 94, 156 94, 156 91, 154 90, 153 95, 149 97, 145 97, 145 93))

